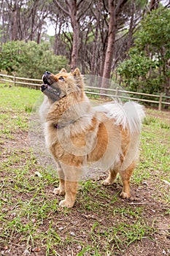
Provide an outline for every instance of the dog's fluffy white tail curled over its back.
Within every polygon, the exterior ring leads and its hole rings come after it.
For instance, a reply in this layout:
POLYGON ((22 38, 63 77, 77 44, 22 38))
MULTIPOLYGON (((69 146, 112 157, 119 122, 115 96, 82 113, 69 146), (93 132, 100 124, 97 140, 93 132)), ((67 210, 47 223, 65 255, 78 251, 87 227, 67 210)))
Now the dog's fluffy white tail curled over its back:
POLYGON ((129 128, 131 134, 140 132, 144 108, 136 102, 108 103, 103 105, 107 109, 107 116, 115 119, 115 124, 122 125, 123 129, 129 128))

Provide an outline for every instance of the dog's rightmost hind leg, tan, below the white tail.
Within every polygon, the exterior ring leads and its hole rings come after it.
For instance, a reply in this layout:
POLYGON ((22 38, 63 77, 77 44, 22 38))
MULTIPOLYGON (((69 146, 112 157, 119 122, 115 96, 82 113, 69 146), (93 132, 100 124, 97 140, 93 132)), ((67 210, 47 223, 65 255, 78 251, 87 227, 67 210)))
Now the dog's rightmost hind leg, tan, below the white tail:
POLYGON ((130 198, 131 197, 131 192, 130 192, 130 178, 131 175, 134 171, 134 168, 136 166, 136 161, 134 160, 133 162, 131 162, 131 165, 128 166, 128 168, 126 168, 125 170, 120 170, 120 176, 122 178, 123 181, 123 190, 120 193, 120 197, 123 198, 130 198))

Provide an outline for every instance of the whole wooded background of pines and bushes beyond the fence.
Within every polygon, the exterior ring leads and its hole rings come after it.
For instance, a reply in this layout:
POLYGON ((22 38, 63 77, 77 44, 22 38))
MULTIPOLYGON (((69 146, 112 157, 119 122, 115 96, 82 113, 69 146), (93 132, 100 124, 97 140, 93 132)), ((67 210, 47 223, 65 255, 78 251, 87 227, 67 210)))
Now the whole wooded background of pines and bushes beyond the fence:
POLYGON ((170 96, 169 7, 159 0, 1 0, 0 70, 41 78, 45 70, 79 67, 131 91, 170 96))

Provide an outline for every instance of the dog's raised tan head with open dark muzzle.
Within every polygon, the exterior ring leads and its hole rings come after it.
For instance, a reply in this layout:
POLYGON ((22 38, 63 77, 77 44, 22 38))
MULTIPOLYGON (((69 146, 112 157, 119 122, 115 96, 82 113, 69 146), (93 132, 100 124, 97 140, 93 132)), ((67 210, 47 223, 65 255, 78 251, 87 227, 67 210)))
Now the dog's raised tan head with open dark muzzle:
POLYGON ((46 71, 42 80, 41 91, 53 102, 73 92, 81 94, 83 91, 83 80, 79 69, 70 73, 66 72, 66 69, 61 69, 57 75, 46 71))

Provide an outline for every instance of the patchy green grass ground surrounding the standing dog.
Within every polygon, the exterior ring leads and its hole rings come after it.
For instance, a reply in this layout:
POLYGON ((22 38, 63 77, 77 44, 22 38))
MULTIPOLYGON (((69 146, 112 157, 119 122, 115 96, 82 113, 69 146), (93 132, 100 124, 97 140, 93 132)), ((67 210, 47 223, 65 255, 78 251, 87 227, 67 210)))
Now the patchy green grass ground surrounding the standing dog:
MULTIPOLYGON (((58 184, 55 171, 39 165, 28 140, 30 113, 40 92, 1 86, 0 93, 0 254, 10 249, 22 255, 27 249, 34 255, 37 249, 37 255, 49 256, 123 255, 132 244, 154 239, 151 206, 142 199, 139 204, 120 199, 120 178, 107 188, 100 181, 82 181, 76 206, 59 208, 61 198, 53 195, 58 184)), ((157 111, 147 112, 131 187, 140 195, 144 182, 153 187, 158 192, 153 197, 161 203, 159 216, 165 217, 169 211, 162 203, 170 198, 163 186, 163 180, 169 181, 169 122, 154 116, 157 111)), ((153 197, 152 207, 157 209, 153 197)))

